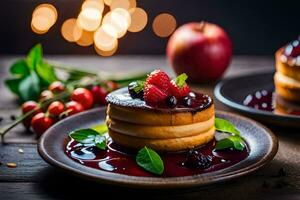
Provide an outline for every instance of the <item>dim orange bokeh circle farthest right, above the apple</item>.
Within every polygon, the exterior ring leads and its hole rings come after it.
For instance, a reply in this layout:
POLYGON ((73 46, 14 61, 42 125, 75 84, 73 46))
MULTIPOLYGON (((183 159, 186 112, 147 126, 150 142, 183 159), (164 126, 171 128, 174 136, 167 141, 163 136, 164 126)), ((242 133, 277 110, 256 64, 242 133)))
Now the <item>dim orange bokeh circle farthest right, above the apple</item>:
POLYGON ((168 37, 175 31, 176 26, 177 22, 173 15, 162 13, 155 17, 152 29, 157 36, 168 37))

